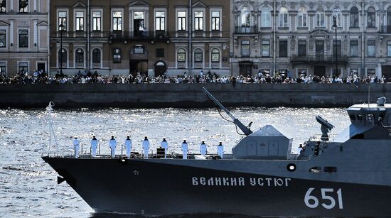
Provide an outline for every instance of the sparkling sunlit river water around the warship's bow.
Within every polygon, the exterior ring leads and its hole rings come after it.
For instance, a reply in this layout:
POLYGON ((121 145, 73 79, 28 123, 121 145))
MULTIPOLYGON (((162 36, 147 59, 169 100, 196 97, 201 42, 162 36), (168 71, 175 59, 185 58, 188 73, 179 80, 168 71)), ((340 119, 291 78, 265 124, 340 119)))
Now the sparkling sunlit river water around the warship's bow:
MULTIPOLYGON (((252 130, 272 124, 294 138, 294 152, 299 143, 321 133, 316 115, 336 126, 332 133, 349 124, 342 108, 239 107, 231 111, 245 125, 252 121, 252 130)), ((111 135, 123 143, 130 134, 139 150, 145 135, 153 149, 166 136, 170 151, 178 152, 183 138, 194 151, 205 139, 212 153, 216 153, 218 141, 223 141, 225 153, 230 153, 242 137, 216 109, 55 109, 53 122, 58 146, 51 151, 58 153, 72 153, 73 136, 88 145, 92 134, 100 140, 102 153, 108 153, 111 135)), ((45 109, 0 110, 0 217, 105 217, 94 214, 66 182, 57 185, 57 173, 41 159, 48 153, 48 136, 45 109)))

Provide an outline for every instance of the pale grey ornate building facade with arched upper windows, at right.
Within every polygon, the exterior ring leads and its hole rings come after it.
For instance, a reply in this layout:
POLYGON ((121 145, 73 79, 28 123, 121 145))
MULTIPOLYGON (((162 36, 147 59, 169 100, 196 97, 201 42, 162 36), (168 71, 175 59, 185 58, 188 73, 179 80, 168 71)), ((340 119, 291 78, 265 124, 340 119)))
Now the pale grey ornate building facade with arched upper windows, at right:
POLYGON ((232 0, 232 74, 391 77, 391 1, 232 0))

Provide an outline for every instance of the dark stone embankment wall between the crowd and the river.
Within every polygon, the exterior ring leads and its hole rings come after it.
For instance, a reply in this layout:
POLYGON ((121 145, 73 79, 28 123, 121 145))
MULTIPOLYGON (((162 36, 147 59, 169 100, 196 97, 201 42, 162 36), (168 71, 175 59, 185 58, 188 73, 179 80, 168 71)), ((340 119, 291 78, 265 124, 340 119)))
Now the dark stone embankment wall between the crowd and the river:
POLYGON ((347 107, 391 101, 391 84, 66 84, 0 85, 0 107, 213 107, 207 88, 226 106, 347 107))

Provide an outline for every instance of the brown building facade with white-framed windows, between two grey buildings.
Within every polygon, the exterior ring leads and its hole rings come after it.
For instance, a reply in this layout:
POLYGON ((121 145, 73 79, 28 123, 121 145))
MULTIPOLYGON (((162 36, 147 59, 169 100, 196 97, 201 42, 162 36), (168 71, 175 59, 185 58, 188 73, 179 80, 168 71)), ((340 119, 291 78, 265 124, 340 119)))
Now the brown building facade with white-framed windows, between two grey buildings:
POLYGON ((50 71, 230 75, 226 0, 50 1, 50 71))

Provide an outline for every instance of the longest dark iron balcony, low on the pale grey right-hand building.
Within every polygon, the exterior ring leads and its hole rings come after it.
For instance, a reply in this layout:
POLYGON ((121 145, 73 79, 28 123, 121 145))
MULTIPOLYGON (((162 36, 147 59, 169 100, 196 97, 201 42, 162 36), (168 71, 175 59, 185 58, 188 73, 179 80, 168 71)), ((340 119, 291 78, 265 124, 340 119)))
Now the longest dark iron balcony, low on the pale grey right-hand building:
POLYGON ((336 59, 338 63, 346 64, 348 63, 348 57, 346 55, 310 55, 310 56, 299 56, 292 55, 291 62, 294 64, 300 63, 312 63, 312 64, 335 64, 336 59))

